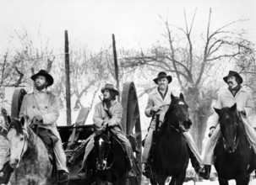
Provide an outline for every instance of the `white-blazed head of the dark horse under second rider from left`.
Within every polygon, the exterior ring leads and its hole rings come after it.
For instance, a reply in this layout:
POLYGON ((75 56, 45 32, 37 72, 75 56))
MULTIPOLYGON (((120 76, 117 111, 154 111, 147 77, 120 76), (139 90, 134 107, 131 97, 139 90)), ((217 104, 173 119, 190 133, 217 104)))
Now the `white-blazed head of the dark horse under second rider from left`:
POLYGON ((106 125, 104 129, 97 130, 95 132, 95 158, 96 168, 99 171, 107 170, 111 166, 108 166, 108 156, 111 152, 111 134, 110 129, 106 125))

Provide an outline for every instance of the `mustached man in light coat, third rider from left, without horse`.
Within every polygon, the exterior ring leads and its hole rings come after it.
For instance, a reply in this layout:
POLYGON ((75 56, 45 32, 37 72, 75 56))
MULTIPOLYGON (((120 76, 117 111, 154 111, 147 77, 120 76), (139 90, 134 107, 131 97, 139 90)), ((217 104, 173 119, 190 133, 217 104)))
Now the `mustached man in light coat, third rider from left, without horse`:
MULTIPOLYGON (((155 88, 153 92, 150 93, 147 107, 145 108, 145 114, 148 117, 153 117, 150 123, 150 128, 148 135, 144 143, 144 151, 142 155, 142 163, 144 164, 143 175, 150 178, 151 166, 149 162, 149 153, 152 144, 152 135, 155 130, 155 115, 160 114, 160 124, 164 121, 166 111, 171 104, 171 91, 168 84, 172 82, 172 77, 167 76, 166 72, 161 71, 158 76, 153 80, 158 87, 155 88)), ((199 156, 199 151, 195 145, 192 136, 188 132, 183 132, 183 135, 188 143, 188 153, 192 162, 192 166, 195 172, 201 170, 201 157, 199 156)))

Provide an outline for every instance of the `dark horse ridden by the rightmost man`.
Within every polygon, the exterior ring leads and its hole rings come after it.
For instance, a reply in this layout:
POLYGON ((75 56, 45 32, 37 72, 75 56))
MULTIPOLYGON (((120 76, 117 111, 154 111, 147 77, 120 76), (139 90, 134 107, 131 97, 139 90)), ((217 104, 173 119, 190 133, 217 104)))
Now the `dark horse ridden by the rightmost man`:
POLYGON ((250 173, 256 167, 256 156, 248 142, 242 115, 237 111, 237 103, 231 108, 215 108, 220 116, 221 137, 215 146, 215 169, 221 185, 235 179, 237 184, 246 185, 250 173))

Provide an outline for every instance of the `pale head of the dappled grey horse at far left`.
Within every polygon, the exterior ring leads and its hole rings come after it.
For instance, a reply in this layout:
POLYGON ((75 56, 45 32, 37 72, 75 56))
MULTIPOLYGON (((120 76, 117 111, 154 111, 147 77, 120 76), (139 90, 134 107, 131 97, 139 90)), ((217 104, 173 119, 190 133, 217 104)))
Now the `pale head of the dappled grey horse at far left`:
POLYGON ((10 148, 10 166, 19 167, 22 156, 29 147, 25 119, 11 119, 8 116, 8 142, 10 148))

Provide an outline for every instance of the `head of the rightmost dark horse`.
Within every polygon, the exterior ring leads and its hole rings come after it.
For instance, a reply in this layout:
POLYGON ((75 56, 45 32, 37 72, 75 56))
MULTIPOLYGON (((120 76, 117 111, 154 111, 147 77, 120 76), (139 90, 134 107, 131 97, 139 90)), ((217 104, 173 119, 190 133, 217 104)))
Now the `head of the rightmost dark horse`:
POLYGON ((238 144, 238 126, 242 124, 237 111, 237 103, 231 108, 215 108, 215 112, 219 115, 221 135, 223 138, 223 145, 226 151, 232 153, 236 151, 238 144))

